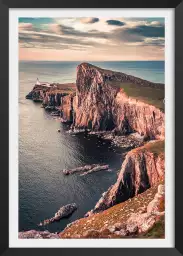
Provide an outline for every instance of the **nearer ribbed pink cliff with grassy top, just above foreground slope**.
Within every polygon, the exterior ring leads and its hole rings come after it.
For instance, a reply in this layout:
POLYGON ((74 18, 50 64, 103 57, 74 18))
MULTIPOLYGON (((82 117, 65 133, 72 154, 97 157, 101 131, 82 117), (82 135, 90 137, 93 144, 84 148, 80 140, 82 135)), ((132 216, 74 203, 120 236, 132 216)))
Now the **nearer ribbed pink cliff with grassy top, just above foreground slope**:
POLYGON ((150 142, 130 151, 122 164, 118 179, 103 193, 95 208, 86 216, 103 211, 155 186, 164 179, 163 141, 150 142))

